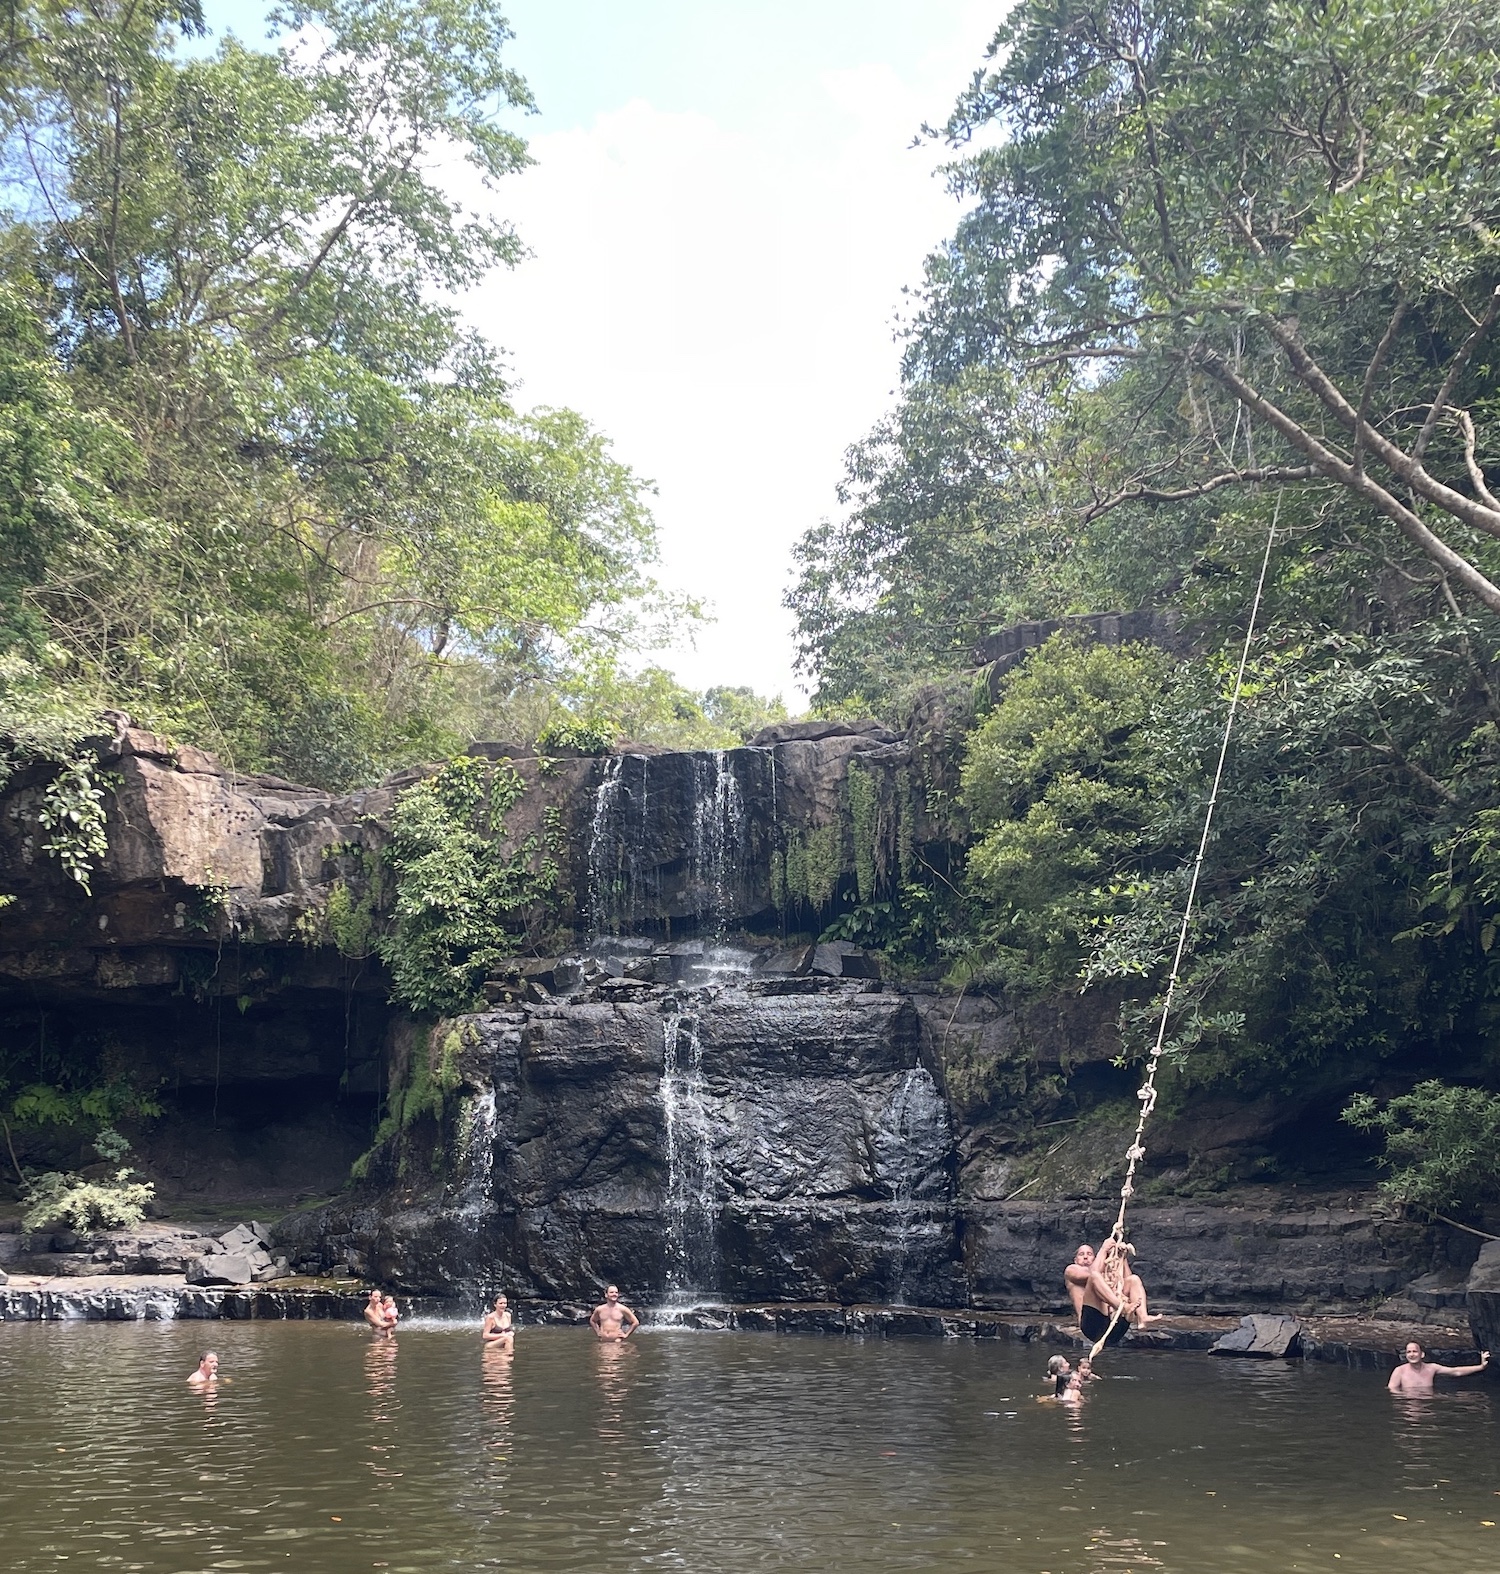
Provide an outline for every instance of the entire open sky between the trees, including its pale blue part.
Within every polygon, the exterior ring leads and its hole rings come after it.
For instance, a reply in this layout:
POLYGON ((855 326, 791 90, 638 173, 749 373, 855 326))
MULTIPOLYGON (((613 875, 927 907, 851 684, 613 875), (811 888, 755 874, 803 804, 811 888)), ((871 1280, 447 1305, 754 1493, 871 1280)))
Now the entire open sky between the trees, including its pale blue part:
MULTIPOLYGON (((216 28, 263 31, 253 0, 216 28)), ((952 228, 911 148, 1004 0, 510 0, 537 164, 501 187, 530 257, 464 309, 521 405, 568 405, 656 483, 663 582, 716 622, 683 683, 804 696, 796 537, 894 397, 903 285, 952 228)))

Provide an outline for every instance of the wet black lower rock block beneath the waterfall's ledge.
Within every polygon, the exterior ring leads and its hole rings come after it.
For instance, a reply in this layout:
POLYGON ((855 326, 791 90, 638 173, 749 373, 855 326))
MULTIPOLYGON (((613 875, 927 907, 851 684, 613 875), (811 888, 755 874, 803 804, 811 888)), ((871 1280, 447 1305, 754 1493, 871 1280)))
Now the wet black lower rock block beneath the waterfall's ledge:
POLYGON ((948 1107, 908 999, 814 979, 636 993, 466 1018, 488 1152, 422 1206, 392 1177, 382 1204, 299 1228, 439 1292, 962 1303, 948 1107))

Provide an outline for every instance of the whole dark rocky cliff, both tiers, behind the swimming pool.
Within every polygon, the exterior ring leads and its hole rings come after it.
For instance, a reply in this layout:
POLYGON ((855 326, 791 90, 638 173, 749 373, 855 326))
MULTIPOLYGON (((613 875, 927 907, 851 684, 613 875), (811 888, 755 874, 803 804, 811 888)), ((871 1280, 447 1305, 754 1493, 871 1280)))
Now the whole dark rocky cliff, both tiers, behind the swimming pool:
MULTIPOLYGON (((87 1066, 154 1094, 139 1144, 168 1204, 338 1193, 282 1223, 297 1264, 540 1300, 619 1278, 678 1300, 1055 1305, 1058 1264, 1108 1225, 1091 1199, 1132 1097, 1118 1001, 908 992, 852 944, 806 943, 836 900, 962 841, 960 726, 933 694, 905 737, 475 746, 523 779, 502 834, 556 856, 548 954, 491 977, 494 1009, 433 1026, 327 921, 422 773, 335 798, 115 718, 91 894, 41 848, 44 778, 0 798, 0 1022, 38 1077, 87 1066)), ((1305 1116, 1163 1113, 1154 1173, 1275 1158, 1305 1116)), ((1469 1261, 1361 1196, 1292 1188, 1143 1206, 1133 1232, 1160 1299, 1240 1311, 1350 1308, 1469 1261)))

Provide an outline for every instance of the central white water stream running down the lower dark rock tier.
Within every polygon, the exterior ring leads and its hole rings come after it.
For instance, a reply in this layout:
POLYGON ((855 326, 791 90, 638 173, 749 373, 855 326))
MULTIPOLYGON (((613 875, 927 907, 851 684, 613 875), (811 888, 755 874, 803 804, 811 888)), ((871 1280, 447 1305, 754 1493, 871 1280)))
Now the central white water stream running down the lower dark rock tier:
POLYGON ((718 1281, 718 1176, 697 1018, 672 1012, 663 1025, 661 1113, 667 1138, 667 1291, 674 1300, 711 1292, 718 1281))

